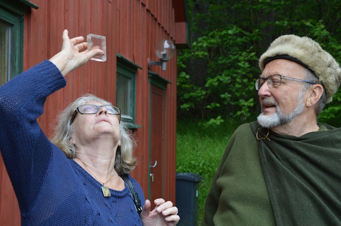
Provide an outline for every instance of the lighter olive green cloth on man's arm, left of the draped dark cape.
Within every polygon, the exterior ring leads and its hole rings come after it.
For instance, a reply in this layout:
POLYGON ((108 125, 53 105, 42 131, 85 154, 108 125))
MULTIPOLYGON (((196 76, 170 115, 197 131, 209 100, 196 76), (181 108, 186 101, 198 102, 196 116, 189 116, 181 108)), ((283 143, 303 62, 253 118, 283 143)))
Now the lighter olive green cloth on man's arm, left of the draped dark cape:
POLYGON ((257 142, 249 123, 229 139, 206 198, 202 226, 276 226, 257 142))

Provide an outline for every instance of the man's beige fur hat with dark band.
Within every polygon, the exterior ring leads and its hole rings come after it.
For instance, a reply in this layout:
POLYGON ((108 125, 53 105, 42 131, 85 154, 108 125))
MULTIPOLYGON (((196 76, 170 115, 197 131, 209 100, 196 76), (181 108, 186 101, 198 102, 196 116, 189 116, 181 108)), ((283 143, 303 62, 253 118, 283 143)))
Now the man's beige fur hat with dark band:
POLYGON ((276 38, 259 59, 259 68, 264 70, 265 65, 275 59, 288 59, 313 71, 324 87, 326 104, 333 100, 341 83, 341 68, 313 39, 297 35, 276 38))

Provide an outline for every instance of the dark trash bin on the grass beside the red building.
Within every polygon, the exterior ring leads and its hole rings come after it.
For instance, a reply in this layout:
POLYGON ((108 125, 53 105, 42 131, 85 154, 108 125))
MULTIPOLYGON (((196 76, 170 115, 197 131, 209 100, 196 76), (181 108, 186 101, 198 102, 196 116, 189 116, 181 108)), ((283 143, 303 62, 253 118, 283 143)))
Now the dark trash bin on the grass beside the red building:
POLYGON ((178 226, 196 226, 198 215, 198 188, 203 177, 199 174, 176 173, 176 207, 178 226))

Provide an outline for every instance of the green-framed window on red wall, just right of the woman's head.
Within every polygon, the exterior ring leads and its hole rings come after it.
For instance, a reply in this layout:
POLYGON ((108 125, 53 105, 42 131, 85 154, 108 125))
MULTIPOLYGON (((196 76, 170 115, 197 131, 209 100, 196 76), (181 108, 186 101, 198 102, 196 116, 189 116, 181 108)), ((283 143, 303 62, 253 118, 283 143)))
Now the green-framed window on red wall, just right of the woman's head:
POLYGON ((116 106, 121 108, 121 121, 128 128, 141 128, 135 123, 136 110, 136 71, 142 69, 121 54, 117 53, 116 65, 116 106))

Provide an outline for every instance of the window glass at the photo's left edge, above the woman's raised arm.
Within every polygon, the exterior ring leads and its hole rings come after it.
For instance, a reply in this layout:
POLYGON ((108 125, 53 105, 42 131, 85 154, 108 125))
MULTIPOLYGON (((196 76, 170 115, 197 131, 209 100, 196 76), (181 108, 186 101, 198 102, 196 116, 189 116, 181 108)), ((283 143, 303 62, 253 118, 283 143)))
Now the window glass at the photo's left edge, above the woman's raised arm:
POLYGON ((11 28, 0 22, 0 86, 10 78, 10 36, 11 28))

